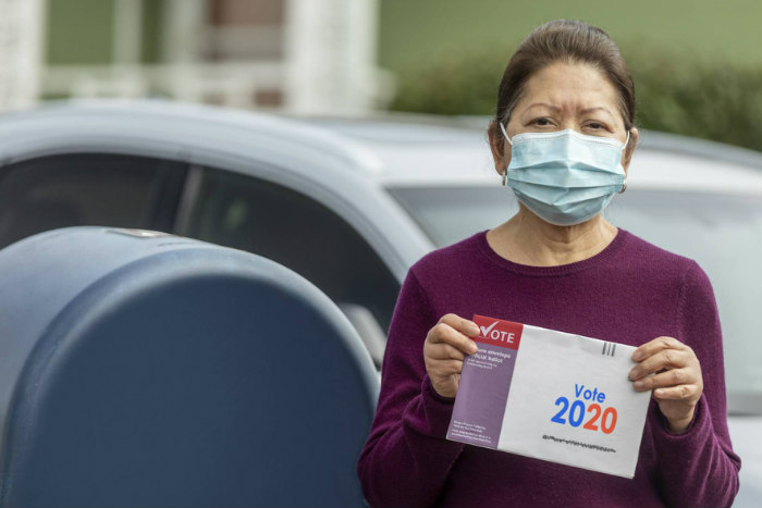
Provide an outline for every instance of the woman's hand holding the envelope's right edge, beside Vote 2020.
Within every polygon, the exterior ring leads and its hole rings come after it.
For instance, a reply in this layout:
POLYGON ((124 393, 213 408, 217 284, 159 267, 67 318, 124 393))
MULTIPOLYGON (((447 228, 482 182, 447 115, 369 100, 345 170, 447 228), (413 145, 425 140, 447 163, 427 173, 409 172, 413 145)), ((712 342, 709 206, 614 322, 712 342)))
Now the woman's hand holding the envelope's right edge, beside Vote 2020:
POLYGON ((685 432, 704 388, 701 364, 693 350, 676 338, 657 337, 636 349, 632 360, 639 362, 629 371, 635 389, 652 389, 669 430, 676 434, 685 432))

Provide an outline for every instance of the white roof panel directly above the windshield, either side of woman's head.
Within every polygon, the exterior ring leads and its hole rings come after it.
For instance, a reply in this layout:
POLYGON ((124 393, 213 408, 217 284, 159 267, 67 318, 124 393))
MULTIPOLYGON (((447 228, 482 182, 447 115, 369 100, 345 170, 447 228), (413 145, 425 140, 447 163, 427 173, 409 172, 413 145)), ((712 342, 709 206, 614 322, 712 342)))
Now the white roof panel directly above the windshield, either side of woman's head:
MULTIPOLYGON (((488 117, 432 121, 423 115, 374 120, 314 119, 377 153, 389 185, 496 183, 488 117)), ((762 153, 715 141, 640 129, 630 188, 762 194, 762 153)))

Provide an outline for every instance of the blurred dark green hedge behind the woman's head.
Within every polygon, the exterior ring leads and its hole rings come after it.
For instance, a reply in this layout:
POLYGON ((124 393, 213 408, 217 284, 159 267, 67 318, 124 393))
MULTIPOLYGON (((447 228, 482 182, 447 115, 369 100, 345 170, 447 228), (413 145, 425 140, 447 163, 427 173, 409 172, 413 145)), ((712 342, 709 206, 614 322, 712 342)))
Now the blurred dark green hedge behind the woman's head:
MULTIPOLYGON (((762 65, 628 53, 638 102, 637 124, 762 151, 762 65)), ((401 73, 392 110, 493 114, 505 54, 447 54, 401 73)))

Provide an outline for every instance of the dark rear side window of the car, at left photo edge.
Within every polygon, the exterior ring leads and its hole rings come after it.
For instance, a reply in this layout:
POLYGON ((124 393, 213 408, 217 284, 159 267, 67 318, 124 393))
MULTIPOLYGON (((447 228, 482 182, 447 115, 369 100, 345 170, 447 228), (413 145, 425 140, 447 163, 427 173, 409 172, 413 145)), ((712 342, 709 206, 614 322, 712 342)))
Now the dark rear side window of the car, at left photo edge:
POLYGON ((185 164, 74 153, 0 168, 0 248, 57 227, 108 225, 171 232, 185 164))

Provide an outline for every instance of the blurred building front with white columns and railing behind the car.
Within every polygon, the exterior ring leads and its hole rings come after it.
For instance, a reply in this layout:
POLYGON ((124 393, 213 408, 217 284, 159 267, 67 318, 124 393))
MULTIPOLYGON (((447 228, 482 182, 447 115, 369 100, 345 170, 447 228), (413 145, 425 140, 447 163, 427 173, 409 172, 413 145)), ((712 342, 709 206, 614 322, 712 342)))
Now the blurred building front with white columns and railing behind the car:
POLYGON ((37 3, 38 13, 27 14, 37 30, 24 32, 34 41, 14 53, 35 62, 27 79, 36 85, 19 85, 27 97, 4 107, 164 97, 361 114, 393 92, 391 75, 376 64, 378 0, 0 1, 19 12, 37 3))

